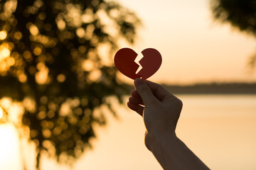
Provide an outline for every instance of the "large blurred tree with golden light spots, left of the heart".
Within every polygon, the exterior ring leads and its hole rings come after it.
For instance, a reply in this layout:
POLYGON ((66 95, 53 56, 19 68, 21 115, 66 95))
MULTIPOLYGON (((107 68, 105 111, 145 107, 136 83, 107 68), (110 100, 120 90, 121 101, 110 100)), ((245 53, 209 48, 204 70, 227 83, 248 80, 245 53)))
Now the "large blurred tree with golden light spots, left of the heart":
POLYGON ((38 169, 42 151, 65 162, 90 146, 92 124, 105 123, 96 108, 114 113, 107 96, 127 91, 110 54, 119 39, 134 42, 139 23, 105 0, 0 1, 0 98, 23 102, 38 169))

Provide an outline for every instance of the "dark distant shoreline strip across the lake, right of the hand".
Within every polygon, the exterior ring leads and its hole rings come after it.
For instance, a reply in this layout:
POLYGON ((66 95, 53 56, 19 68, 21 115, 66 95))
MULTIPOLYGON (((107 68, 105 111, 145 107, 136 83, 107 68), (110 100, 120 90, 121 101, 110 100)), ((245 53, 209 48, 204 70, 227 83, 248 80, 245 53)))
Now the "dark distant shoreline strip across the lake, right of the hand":
MULTIPOLYGON (((172 94, 256 94, 256 83, 212 83, 194 85, 162 84, 172 94)), ((134 89, 131 86, 131 89, 134 89)))

